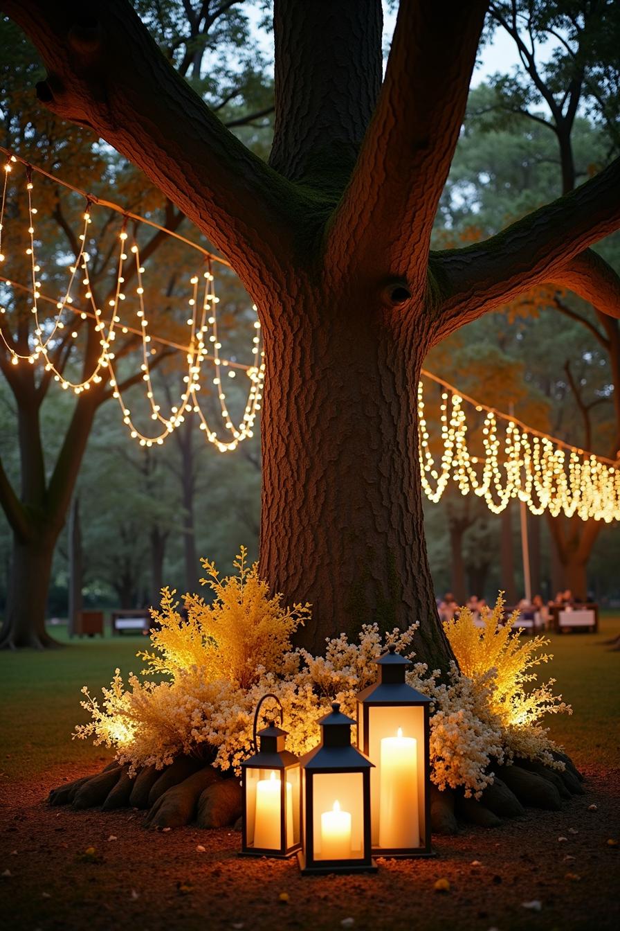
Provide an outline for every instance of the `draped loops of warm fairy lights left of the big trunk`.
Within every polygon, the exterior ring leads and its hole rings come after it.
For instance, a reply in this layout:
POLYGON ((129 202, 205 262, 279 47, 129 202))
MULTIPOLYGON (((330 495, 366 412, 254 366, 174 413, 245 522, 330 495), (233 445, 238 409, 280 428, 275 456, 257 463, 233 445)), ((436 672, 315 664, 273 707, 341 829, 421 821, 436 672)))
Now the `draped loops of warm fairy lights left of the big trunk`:
MULTIPOLYGON (((7 190, 8 177, 16 165, 20 165, 20 160, 15 155, 8 155, 5 164, 5 181, 3 184, 2 200, 0 201, 0 263, 5 261, 5 255, 2 252, 2 236, 6 228, 7 215, 7 190)), ((5 345, 11 364, 19 365, 25 362, 30 365, 36 363, 43 364, 46 371, 50 371, 56 382, 64 390, 73 390, 75 395, 80 395, 84 391, 90 390, 91 385, 99 385, 106 378, 108 384, 112 387, 112 396, 116 398, 120 406, 123 422, 129 432, 131 439, 135 439, 142 446, 152 446, 153 444, 162 445, 165 439, 174 432, 185 420, 187 412, 194 412, 198 415, 200 429, 204 431, 205 439, 212 443, 219 452, 231 452, 235 450, 239 443, 244 439, 253 436, 253 427, 256 421, 257 412, 260 410, 262 399, 262 389, 264 382, 265 364, 263 361, 263 351, 260 348, 260 324, 258 320, 254 322, 254 332, 251 345, 251 362, 248 365, 235 363, 231 359, 221 358, 220 350, 222 344, 218 339, 218 303, 219 298, 216 293, 215 276, 213 274, 213 263, 218 261, 218 257, 200 250, 204 255, 203 264, 206 269, 201 274, 195 274, 190 278, 191 297, 189 298, 189 309, 187 325, 189 327, 189 344, 181 348, 185 352, 187 373, 183 375, 184 388, 177 400, 177 403, 170 405, 168 413, 162 412, 162 405, 157 403, 155 390, 152 380, 151 357, 154 354, 152 342, 160 344, 170 343, 161 338, 152 337, 149 332, 149 315, 144 301, 144 279, 147 275, 145 266, 140 262, 139 243, 134 241, 129 245, 129 234, 127 233, 127 215, 125 214, 120 233, 118 234, 118 255, 116 260, 116 281, 113 288, 113 295, 108 300, 108 311, 99 307, 96 299, 94 288, 91 284, 89 274, 90 254, 86 248, 88 226, 92 223, 91 211, 96 207, 95 198, 90 198, 84 192, 86 197, 86 211, 83 214, 82 232, 78 237, 79 250, 78 254, 68 264, 68 283, 63 290, 62 296, 58 301, 53 302, 42 293, 42 269, 36 258, 35 248, 35 228, 34 223, 37 217, 37 209, 33 205, 33 169, 30 165, 23 164, 25 168, 25 188, 28 207, 28 248, 25 250, 31 264, 31 286, 20 287, 20 290, 26 291, 32 298, 31 312, 33 314, 33 334, 32 341, 29 344, 27 352, 19 352, 12 338, 5 333, 0 325, 0 339, 5 345), (128 263, 135 264, 135 288, 136 317, 137 327, 126 326, 121 317, 121 306, 127 297, 125 292, 125 277, 127 277, 128 263), (80 280, 80 275, 81 280, 80 280), (75 301, 73 290, 82 288, 83 293, 79 301, 75 301), (48 303, 56 304, 56 313, 52 320, 43 320, 40 314, 40 303, 46 300, 48 303), (86 304, 86 306, 85 306, 86 304), (90 305, 91 310, 87 311, 86 307, 90 305), (73 324, 69 324, 72 329, 69 331, 72 340, 77 339, 79 331, 73 329, 76 320, 86 320, 87 317, 94 318, 95 331, 99 334, 99 358, 92 371, 86 378, 80 381, 72 381, 60 369, 55 361, 56 342, 59 337, 64 337, 64 331, 67 329, 66 315, 69 313, 73 316, 73 324), (121 331, 124 334, 129 332, 139 333, 141 343, 142 362, 140 371, 142 371, 142 380, 146 388, 146 398, 151 410, 151 419, 154 429, 151 432, 145 432, 136 424, 131 409, 128 407, 121 383, 117 374, 117 365, 115 362, 116 354, 113 351, 114 341, 117 333, 121 331), (208 352, 212 348, 213 352, 208 352), (210 362, 215 371, 208 372, 206 363, 210 362), (245 402, 244 413, 241 421, 237 424, 231 420, 231 414, 228 411, 227 392, 223 384, 224 370, 230 378, 234 378, 236 371, 244 371, 249 379, 250 386, 245 402), (204 405, 201 404, 199 393, 201 392, 204 379, 209 379, 215 389, 218 397, 219 413, 224 425, 224 433, 218 433, 209 424, 207 414, 204 412, 204 405)), ((42 172, 44 173, 44 172, 42 172)), ((58 179, 55 179, 59 182, 58 179)), ((59 182, 63 183, 63 182, 59 182)), ((75 190, 73 188, 73 190, 75 190)), ((106 202, 106 206, 112 206, 106 202)), ((120 210, 120 209, 119 209, 120 210)), ((122 211, 121 211, 122 212, 122 211)), ((133 215, 132 215, 133 216, 133 215)), ((134 218, 137 219, 137 218, 134 218)), ((155 225, 155 224, 151 224, 155 225)), ((160 227, 161 228, 161 227, 160 227)), ((177 236, 177 238, 179 238, 177 236)), ((187 242, 187 240, 185 240, 187 242)), ((197 248, 197 247, 196 247, 197 248)), ((0 276, 7 287, 15 287, 6 277, 0 276)), ((256 306, 253 308, 256 312, 256 306)), ((0 315, 5 315, 7 308, 0 306, 0 315)), ((125 316, 125 315, 124 315, 125 316)), ((176 348, 179 348, 178 345, 176 348)))

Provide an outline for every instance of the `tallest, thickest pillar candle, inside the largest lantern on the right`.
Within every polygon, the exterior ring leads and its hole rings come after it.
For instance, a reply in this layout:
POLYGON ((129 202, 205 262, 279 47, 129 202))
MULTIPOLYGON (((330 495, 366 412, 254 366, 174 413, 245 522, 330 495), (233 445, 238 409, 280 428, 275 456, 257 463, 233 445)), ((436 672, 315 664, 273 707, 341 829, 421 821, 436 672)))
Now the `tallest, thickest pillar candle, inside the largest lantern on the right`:
POLYGON ((403 737, 400 727, 398 736, 381 740, 379 783, 379 846, 419 847, 417 741, 403 737))

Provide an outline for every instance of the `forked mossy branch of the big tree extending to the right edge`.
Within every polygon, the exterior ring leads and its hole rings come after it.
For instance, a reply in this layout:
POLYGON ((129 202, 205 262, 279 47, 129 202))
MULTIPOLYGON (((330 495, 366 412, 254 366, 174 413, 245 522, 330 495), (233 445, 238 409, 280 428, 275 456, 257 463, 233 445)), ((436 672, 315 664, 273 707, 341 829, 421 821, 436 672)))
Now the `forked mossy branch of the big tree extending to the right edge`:
POLYGON ((588 301, 600 302, 601 310, 620 316, 617 276, 587 250, 618 227, 620 159, 496 236, 434 253, 431 270, 443 295, 434 341, 547 282, 574 287, 588 301))

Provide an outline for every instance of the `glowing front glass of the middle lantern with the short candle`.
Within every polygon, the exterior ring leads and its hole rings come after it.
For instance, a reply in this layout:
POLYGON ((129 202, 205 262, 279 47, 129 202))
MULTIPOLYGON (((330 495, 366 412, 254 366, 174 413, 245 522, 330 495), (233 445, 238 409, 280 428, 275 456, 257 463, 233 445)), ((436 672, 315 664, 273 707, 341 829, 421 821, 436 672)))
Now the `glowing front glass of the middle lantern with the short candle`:
POLYGON ((362 859, 362 773, 315 773, 312 776, 315 860, 362 859))

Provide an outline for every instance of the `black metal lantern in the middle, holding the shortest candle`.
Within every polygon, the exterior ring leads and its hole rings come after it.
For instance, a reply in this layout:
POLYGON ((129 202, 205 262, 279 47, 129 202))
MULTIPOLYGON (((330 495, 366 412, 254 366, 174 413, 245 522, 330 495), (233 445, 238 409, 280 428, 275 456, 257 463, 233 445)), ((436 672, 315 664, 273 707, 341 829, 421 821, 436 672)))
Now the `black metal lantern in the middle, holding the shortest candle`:
POLYGON ((321 744, 301 759, 303 873, 374 872, 370 840, 370 771, 351 746, 355 722, 337 702, 321 719, 321 744))

